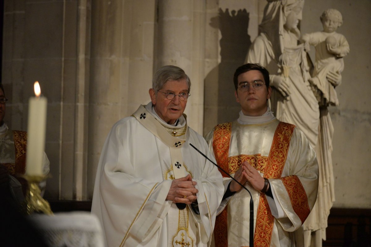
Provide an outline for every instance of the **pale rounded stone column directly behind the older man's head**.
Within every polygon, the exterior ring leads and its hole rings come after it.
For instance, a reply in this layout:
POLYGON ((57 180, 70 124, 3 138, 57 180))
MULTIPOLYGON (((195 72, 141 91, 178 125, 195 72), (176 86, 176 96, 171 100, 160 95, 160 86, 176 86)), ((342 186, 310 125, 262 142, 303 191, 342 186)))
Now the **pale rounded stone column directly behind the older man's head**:
POLYGON ((205 0, 160 0, 156 69, 176 65, 191 79, 191 97, 185 114, 188 124, 203 132, 205 0))

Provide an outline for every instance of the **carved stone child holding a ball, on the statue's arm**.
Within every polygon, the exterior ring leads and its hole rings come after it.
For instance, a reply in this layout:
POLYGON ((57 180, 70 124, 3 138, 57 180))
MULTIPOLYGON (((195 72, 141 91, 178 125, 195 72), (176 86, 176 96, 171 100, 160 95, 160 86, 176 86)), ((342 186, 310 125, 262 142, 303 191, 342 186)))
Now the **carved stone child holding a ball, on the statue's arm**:
POLYGON ((304 34, 301 38, 307 51, 310 45, 316 49, 313 75, 309 82, 318 88, 316 96, 320 106, 339 105, 335 87, 341 79, 335 80, 331 75, 341 78, 343 57, 349 53, 349 44, 344 35, 335 32, 343 23, 338 10, 327 9, 320 19, 323 31, 304 34))

